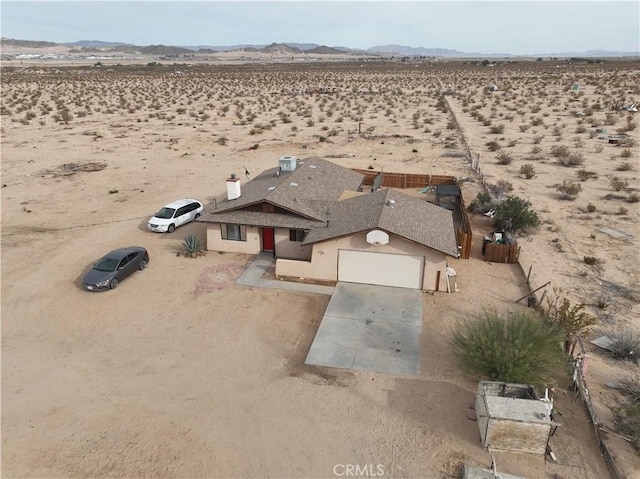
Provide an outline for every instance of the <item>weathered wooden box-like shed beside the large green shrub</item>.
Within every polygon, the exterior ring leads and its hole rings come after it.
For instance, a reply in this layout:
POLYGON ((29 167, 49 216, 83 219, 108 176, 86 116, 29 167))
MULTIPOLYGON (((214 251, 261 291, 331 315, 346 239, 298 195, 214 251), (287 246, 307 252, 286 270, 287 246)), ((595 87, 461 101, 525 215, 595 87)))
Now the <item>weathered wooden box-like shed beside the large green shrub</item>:
POLYGON ((552 431, 553 407, 526 384, 481 381, 476 416, 482 445, 490 450, 545 454, 552 431))

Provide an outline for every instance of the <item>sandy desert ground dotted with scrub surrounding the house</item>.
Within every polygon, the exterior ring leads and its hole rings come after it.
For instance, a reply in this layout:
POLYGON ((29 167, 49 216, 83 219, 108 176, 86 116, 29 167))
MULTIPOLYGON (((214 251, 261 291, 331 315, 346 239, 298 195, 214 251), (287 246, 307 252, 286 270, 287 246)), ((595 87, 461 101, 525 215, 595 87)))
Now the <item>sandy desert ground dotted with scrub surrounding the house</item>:
MULTIPOLYGON (((483 307, 526 307, 515 300, 532 266, 532 287, 551 281, 588 305, 592 336, 640 331, 640 129, 617 109, 640 95, 639 67, 3 65, 2 476, 315 478, 358 464, 371 477, 381 465, 386 477, 453 478, 462 463, 487 467, 466 415, 477 378, 456 363, 453 326, 483 307), (630 139, 611 144, 602 129, 630 139), (480 252, 491 219, 470 214, 472 256, 451 261, 459 291, 424 295, 418 377, 305 366, 327 296, 235 285, 247 256, 178 256, 187 234, 204 239, 201 223, 146 230, 164 204, 210 203, 230 173, 282 155, 453 175, 467 205, 484 181, 531 201, 542 225, 519 238, 521 265, 491 264, 480 252), (563 181, 581 190, 564 195, 563 181), (95 260, 129 245, 148 249, 145 271, 115 291, 82 290, 95 260)), ((620 397, 606 383, 638 366, 587 346, 613 428, 620 397)), ((554 385, 558 461, 495 453, 502 472, 608 477, 569 385, 554 385)), ((624 477, 640 477, 640 456, 608 441, 624 477)))

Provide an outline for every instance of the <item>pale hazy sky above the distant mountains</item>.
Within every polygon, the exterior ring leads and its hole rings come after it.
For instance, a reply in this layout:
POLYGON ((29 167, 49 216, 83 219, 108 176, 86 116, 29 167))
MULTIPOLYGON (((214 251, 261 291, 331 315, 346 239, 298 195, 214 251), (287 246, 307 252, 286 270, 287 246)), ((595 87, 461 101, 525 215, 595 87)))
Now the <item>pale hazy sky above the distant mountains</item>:
POLYGON ((1 35, 138 46, 315 43, 460 52, 640 51, 633 1, 0 1, 1 35))

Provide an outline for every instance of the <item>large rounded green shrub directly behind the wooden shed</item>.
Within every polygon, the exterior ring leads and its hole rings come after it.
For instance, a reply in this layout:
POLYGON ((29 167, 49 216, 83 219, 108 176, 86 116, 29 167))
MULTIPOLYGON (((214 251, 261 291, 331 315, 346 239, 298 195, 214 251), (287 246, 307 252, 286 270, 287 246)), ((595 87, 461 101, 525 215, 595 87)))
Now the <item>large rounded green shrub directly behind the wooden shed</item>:
POLYGON ((562 369, 560 337, 530 311, 506 318, 487 311, 453 330, 453 346, 463 369, 493 381, 542 384, 562 369))

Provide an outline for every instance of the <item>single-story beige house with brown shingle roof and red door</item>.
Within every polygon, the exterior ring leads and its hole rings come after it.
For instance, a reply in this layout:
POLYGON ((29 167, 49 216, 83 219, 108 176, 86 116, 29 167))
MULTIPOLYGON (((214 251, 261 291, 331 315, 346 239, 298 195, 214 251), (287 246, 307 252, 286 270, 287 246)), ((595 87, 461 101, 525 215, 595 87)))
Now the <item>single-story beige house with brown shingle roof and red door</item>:
POLYGON ((207 249, 272 252, 278 277, 446 291, 459 249, 452 212, 321 158, 280 158, 205 208, 207 249))

